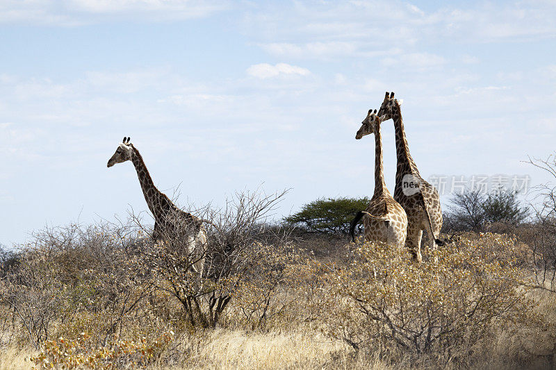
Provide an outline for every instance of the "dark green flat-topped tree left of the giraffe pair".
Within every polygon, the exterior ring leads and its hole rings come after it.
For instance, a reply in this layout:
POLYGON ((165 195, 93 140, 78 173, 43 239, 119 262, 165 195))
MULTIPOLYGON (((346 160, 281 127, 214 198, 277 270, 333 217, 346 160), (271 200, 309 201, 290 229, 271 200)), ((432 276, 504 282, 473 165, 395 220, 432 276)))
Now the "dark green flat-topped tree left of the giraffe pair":
POLYGON ((313 233, 347 234, 354 215, 365 210, 369 202, 367 197, 317 199, 304 205, 300 212, 284 217, 284 221, 313 233))

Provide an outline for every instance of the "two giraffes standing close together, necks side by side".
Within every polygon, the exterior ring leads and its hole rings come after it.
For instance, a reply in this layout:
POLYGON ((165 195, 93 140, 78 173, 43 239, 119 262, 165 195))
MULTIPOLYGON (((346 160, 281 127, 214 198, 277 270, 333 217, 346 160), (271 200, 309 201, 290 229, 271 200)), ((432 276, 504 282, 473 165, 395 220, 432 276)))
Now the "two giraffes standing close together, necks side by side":
POLYGON ((366 211, 357 213, 352 221, 350 233, 354 239, 354 229, 363 217, 365 239, 398 246, 407 246, 416 262, 421 262, 420 244, 423 230, 432 239, 432 247, 442 245, 438 239, 442 228, 442 210, 439 193, 421 178, 417 165, 409 154, 405 137, 400 105, 402 100, 394 99, 394 93, 386 92, 382 106, 369 110, 356 139, 375 134, 375 194, 370 199, 366 211), (393 119, 395 129, 395 148, 398 165, 395 173, 394 196, 384 182, 382 164, 382 137, 380 124, 393 119))

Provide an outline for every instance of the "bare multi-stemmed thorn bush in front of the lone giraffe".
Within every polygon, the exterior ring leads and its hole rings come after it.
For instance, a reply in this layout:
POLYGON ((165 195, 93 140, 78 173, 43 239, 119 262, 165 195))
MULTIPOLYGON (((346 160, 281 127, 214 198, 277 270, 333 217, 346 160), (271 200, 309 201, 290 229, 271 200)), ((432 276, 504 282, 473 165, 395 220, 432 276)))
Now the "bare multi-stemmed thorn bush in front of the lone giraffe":
POLYGON ((174 233, 162 228, 165 242, 138 239, 129 266, 155 289, 176 298, 190 326, 214 328, 253 262, 264 261, 265 243, 284 235, 266 223, 284 194, 238 192, 221 209, 197 210, 206 230, 202 248, 190 247, 195 230, 174 233))

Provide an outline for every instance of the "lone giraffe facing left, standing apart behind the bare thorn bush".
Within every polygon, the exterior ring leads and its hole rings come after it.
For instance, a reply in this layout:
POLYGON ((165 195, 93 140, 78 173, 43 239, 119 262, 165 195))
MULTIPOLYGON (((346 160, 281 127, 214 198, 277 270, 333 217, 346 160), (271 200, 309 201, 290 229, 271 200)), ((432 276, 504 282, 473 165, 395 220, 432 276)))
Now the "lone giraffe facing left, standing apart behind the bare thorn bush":
POLYGON ((193 258, 191 269, 202 278, 206 244, 206 231, 202 226, 202 220, 180 210, 154 186, 141 154, 130 140, 130 137, 124 137, 124 141, 118 145, 106 167, 131 160, 137 171, 145 201, 154 216, 152 239, 160 244, 170 239, 185 240, 189 254, 193 258))

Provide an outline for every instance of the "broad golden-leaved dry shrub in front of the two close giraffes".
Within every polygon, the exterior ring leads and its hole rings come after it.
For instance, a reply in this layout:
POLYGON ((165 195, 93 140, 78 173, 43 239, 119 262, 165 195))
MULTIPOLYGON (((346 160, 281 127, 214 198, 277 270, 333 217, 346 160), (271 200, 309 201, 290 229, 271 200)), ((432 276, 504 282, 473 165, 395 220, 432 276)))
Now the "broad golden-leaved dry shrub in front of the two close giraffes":
POLYGON ((513 258, 485 260, 493 244, 490 235, 463 239, 423 264, 405 249, 358 246, 352 265, 331 278, 329 333, 356 350, 463 361, 494 330, 523 321, 532 304, 513 258))

